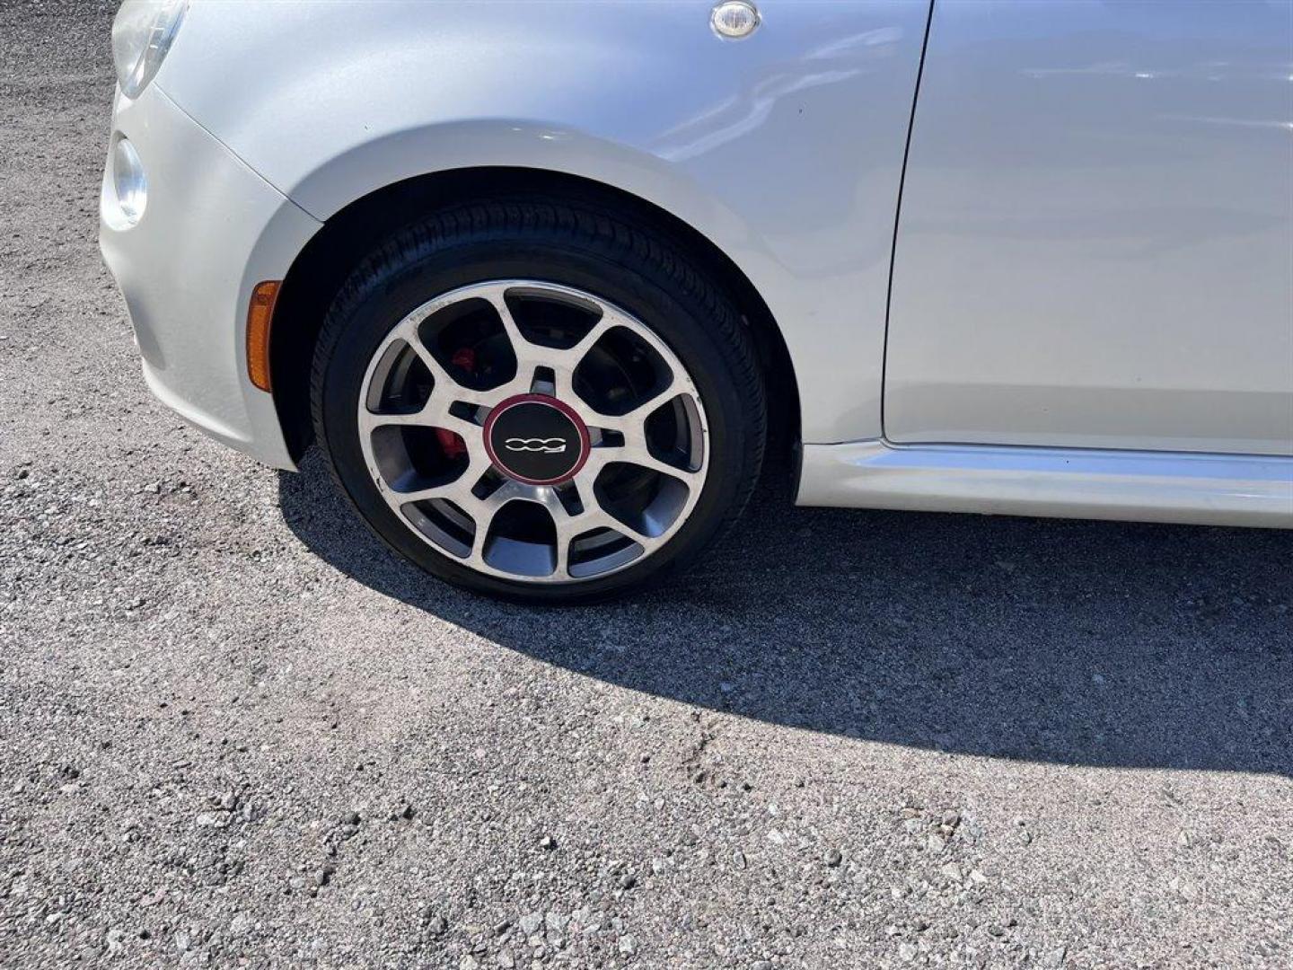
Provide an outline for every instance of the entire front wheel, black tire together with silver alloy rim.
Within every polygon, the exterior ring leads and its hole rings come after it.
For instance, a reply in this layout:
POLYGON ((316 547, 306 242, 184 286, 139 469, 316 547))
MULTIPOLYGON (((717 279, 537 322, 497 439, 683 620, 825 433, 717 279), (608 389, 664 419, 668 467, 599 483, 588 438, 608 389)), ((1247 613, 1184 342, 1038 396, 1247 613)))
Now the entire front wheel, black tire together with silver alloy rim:
POLYGON ((383 244, 328 313, 312 391, 334 476, 388 544, 526 601, 676 572, 763 457, 723 290, 650 230, 559 202, 467 204, 383 244))

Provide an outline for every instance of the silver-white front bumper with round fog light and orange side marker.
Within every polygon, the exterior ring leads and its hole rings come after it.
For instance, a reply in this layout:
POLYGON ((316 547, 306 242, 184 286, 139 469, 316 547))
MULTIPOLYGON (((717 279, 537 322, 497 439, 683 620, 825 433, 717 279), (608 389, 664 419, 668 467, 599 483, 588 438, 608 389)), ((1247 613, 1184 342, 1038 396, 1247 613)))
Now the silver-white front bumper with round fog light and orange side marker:
MULTIPOLYGON (((149 387, 217 441, 291 468, 274 401, 247 379, 247 304, 256 283, 286 275, 321 222, 156 84, 119 98, 112 124, 144 159, 149 203, 133 228, 101 219, 100 247, 125 297, 149 387)), ((102 198, 110 212, 106 171, 102 198)))

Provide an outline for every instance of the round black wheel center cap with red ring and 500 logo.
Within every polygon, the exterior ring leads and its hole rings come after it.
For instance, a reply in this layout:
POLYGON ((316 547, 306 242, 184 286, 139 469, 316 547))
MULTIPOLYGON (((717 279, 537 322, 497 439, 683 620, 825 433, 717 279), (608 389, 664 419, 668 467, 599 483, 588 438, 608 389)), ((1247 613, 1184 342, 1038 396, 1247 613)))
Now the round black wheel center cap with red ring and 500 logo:
POLYGON ((485 450, 504 475, 526 485, 560 485, 588 460, 588 428, 550 394, 517 394, 485 420, 485 450))

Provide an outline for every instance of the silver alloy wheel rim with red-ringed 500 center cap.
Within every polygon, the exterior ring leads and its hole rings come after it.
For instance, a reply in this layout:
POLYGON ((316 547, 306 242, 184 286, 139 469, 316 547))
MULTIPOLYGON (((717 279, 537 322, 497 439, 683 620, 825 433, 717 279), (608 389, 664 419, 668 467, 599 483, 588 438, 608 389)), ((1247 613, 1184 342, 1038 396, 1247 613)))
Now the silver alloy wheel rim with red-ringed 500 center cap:
POLYGON ((707 472, 705 407, 674 352, 606 300, 539 281, 475 283, 409 313, 369 363, 358 429, 420 539, 529 583, 657 552, 707 472))

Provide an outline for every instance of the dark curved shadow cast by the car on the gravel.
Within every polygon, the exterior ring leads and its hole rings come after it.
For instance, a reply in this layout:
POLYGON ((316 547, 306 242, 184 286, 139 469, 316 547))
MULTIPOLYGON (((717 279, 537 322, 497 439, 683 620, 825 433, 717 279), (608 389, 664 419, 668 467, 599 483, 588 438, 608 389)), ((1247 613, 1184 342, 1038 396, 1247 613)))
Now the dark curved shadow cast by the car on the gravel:
POLYGON ((579 609, 424 576, 317 455, 279 494, 358 582, 635 691, 923 749, 1293 775, 1293 533, 795 508, 769 477, 692 574, 579 609))

